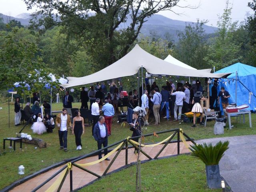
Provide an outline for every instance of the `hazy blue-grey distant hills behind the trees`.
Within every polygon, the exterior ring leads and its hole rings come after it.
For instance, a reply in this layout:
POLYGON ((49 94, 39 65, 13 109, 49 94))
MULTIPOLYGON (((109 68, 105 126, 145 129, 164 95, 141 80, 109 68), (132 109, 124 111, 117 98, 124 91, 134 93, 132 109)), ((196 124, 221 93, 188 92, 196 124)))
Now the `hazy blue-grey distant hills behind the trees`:
MULTIPOLYGON (((16 17, 7 16, 4 14, 0 14, 0 16, 2 16, 5 23, 8 23, 10 20, 15 19, 17 21, 20 21, 21 24, 24 26, 29 25, 29 20, 31 18, 29 13, 22 13, 17 15, 16 17)), ((172 36, 172 39, 175 42, 178 39, 177 32, 183 31, 184 28, 186 27, 186 24, 193 25, 193 22, 173 20, 165 16, 162 16, 160 14, 154 14, 147 20, 148 21, 143 24, 142 29, 140 30, 140 32, 144 36, 150 36, 150 32, 151 32, 163 38, 168 33, 172 36)), ((120 28, 127 26, 128 24, 130 24, 130 22, 131 20, 128 19, 127 22, 125 24, 122 24, 120 28)), ((212 34, 217 30, 216 27, 212 27, 208 25, 204 25, 203 27, 206 34, 212 34)))

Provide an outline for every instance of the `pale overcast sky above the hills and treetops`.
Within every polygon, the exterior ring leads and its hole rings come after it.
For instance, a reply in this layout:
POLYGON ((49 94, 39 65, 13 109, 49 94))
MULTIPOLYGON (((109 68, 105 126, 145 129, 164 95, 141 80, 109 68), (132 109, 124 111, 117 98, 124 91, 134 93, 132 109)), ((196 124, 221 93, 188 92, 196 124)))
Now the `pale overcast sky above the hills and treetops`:
MULTIPOLYGON (((246 14, 253 14, 253 11, 248 8, 248 2, 252 0, 229 0, 232 4, 232 19, 233 21, 244 21, 246 14)), ((180 6, 198 6, 197 9, 178 8, 173 9, 174 12, 182 14, 176 15, 170 11, 163 11, 160 14, 182 21, 196 22, 196 19, 209 20, 208 25, 216 26, 218 14, 222 14, 226 6, 226 0, 181 0, 180 6)), ((34 9, 35 10, 35 9, 34 9)), ((31 13, 34 10, 26 10, 26 5, 22 0, 0 0, 0 13, 10 16, 17 16, 21 13, 31 13)))

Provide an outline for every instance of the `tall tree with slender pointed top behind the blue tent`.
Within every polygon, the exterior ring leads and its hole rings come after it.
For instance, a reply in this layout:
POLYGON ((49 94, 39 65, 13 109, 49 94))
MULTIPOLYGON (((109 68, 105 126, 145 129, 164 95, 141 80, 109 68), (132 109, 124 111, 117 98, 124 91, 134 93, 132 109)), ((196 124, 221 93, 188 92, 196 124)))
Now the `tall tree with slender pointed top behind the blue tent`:
POLYGON ((234 32, 237 29, 237 22, 232 23, 230 14, 232 8, 229 7, 229 2, 226 2, 224 13, 219 17, 218 36, 210 45, 208 54, 204 58, 212 67, 220 69, 236 62, 242 58, 239 56, 241 44, 234 42, 234 32))

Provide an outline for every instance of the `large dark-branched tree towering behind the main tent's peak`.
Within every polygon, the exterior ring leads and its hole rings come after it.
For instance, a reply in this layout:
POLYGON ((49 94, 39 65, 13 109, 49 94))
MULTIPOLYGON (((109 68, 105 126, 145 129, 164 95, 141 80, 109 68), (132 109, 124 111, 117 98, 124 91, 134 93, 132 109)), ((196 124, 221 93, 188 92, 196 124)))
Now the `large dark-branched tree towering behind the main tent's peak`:
POLYGON ((56 10, 70 37, 86 43, 88 52, 102 67, 124 56, 140 33, 146 19, 171 10, 180 0, 24 0, 35 15, 56 10), (92 12, 90 12, 91 10, 92 12))

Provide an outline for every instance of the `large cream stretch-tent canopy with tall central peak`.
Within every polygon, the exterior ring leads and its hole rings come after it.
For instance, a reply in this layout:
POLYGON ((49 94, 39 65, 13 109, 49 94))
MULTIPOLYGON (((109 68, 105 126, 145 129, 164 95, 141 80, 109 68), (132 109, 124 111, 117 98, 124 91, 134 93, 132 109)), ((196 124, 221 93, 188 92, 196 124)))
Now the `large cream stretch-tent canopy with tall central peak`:
POLYGON ((178 66, 173 63, 166 62, 157 58, 142 48, 138 44, 120 60, 112 65, 88 76, 84 77, 67 77, 69 83, 61 84, 64 88, 90 84, 94 82, 116 79, 124 76, 132 76, 143 67, 151 74, 175 75, 175 76, 190 76, 190 77, 212 77, 220 78, 229 74, 213 74, 205 70, 194 70, 178 66))

